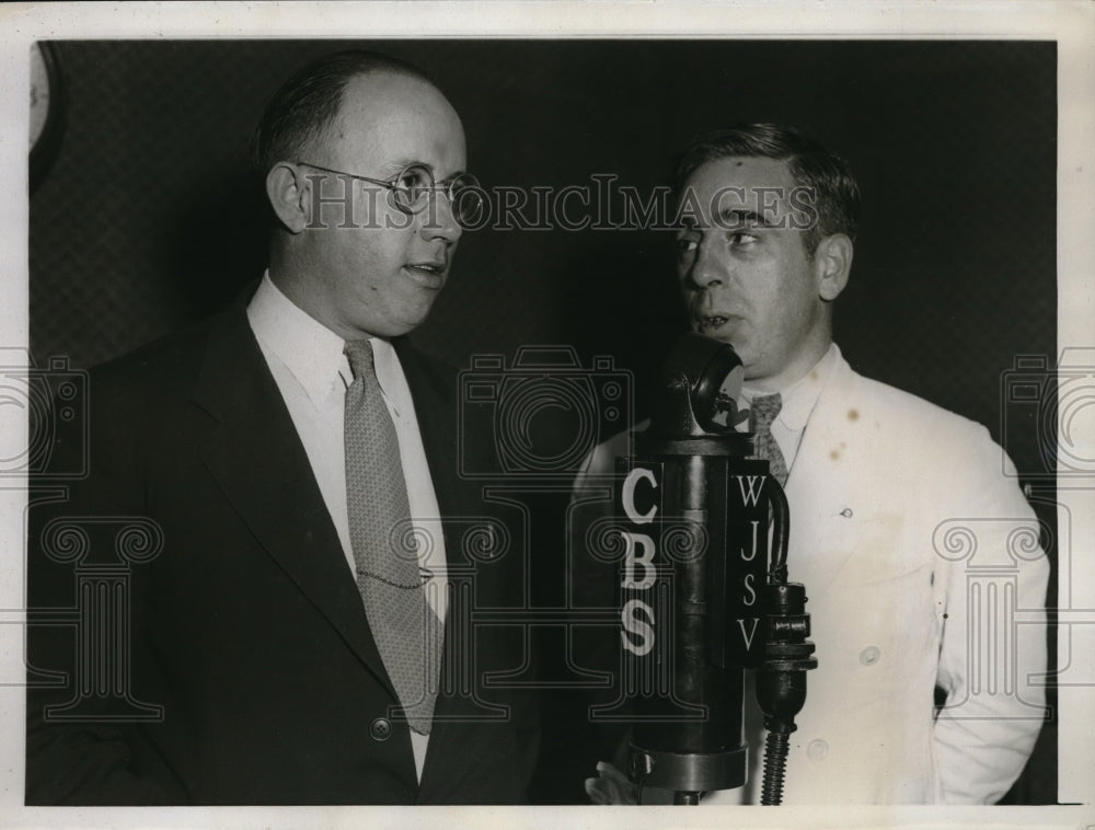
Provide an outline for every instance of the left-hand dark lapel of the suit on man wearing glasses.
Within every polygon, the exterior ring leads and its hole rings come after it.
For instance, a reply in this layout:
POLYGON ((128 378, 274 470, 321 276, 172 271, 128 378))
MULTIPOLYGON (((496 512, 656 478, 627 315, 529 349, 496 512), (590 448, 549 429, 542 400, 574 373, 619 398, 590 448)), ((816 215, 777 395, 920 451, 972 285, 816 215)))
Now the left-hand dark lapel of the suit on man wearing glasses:
POLYGON ((220 422, 200 454, 224 495, 397 700, 308 456, 242 307, 226 312, 210 332, 194 400, 220 422))

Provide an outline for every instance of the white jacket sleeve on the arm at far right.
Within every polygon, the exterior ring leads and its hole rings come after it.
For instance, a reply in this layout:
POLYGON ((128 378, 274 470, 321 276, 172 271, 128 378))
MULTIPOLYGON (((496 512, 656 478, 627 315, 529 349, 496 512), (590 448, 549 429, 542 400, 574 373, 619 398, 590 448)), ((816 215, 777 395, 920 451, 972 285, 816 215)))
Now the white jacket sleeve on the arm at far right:
POLYGON ((964 450, 950 474, 969 497, 933 539, 946 691, 933 743, 943 800, 993 804, 1023 771, 1045 715, 1049 563, 1004 451, 983 427, 964 450))

